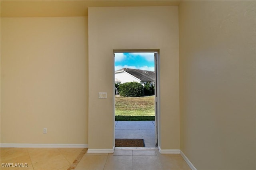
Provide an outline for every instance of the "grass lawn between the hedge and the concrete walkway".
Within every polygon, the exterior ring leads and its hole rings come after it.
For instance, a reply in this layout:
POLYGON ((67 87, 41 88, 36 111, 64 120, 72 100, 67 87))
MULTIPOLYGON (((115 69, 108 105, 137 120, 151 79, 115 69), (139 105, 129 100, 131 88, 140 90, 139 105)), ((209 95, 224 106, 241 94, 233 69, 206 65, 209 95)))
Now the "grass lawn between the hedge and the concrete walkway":
POLYGON ((155 97, 117 97, 116 121, 153 121, 155 97))

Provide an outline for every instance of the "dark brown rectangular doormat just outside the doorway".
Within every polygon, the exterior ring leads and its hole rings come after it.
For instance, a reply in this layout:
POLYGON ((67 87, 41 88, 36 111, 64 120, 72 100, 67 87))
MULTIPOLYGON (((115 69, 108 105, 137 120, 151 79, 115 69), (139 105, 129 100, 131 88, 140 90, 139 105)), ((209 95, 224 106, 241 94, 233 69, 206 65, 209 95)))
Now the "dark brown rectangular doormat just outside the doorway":
POLYGON ((144 139, 116 139, 116 147, 145 147, 144 139))

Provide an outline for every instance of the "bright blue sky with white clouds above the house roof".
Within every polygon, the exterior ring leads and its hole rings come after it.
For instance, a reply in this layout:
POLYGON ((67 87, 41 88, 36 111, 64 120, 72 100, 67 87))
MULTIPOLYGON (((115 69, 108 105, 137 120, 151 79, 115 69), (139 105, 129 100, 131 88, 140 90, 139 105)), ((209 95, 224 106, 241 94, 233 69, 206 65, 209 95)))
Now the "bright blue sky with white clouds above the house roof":
POLYGON ((154 53, 115 53, 115 70, 126 68, 154 71, 154 53))

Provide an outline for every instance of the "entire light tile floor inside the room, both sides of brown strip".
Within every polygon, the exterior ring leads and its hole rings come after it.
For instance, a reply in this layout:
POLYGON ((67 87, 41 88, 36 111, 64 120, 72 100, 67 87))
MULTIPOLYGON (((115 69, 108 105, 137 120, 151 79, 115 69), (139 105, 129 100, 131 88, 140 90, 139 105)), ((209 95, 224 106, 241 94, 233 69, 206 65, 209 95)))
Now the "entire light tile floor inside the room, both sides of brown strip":
MULTIPOLYGON (((71 170, 83 148, 1 148, 1 169, 71 170), (2 163, 23 163, 28 167, 7 168, 2 163)), ((115 150, 113 154, 81 156, 75 170, 190 170, 180 154, 160 154, 158 150, 115 150)))

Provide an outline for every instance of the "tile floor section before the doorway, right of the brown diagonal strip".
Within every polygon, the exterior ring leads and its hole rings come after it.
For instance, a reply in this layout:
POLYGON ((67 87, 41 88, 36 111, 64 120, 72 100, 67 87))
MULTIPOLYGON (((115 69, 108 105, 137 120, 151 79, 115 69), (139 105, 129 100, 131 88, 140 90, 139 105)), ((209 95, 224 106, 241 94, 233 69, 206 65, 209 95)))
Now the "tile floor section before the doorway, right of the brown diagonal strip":
POLYGON ((113 154, 86 153, 75 170, 190 170, 180 154, 158 150, 115 150, 113 154))

